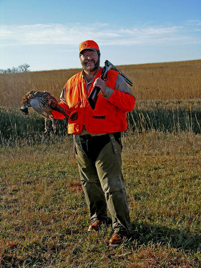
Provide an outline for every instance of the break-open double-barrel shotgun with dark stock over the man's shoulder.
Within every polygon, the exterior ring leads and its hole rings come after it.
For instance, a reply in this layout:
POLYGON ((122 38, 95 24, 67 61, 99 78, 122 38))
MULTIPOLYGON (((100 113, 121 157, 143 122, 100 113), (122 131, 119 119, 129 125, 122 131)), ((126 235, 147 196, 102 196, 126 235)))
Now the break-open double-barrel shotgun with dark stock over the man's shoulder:
MULTIPOLYGON (((103 67, 100 78, 104 80, 106 73, 110 69, 119 72, 122 75, 122 77, 125 79, 125 81, 128 83, 128 85, 133 86, 133 82, 108 60, 105 61, 105 66, 103 67)), ((95 86, 88 97, 89 104, 93 110, 95 109, 95 105, 98 100, 99 92, 100 92, 100 88, 95 86)))

